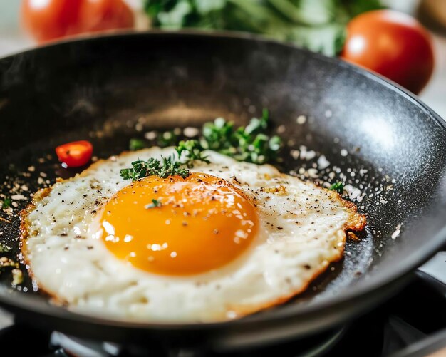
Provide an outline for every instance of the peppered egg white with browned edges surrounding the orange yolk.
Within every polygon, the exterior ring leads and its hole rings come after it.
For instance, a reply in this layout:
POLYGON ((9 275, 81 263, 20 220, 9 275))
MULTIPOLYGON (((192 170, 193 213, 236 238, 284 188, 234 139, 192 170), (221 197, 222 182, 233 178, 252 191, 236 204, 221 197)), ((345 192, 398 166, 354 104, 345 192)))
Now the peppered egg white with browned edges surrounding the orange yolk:
POLYGON ((69 309, 131 321, 220 321, 286 301, 341 259, 346 229, 365 218, 336 192, 270 165, 209 152, 192 171, 239 187, 256 207, 259 234, 227 266, 193 276, 150 274, 117 259, 98 239, 101 209, 130 184, 120 169, 172 148, 126 152, 38 192, 23 214, 22 252, 38 286, 69 309))

